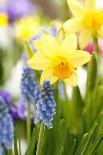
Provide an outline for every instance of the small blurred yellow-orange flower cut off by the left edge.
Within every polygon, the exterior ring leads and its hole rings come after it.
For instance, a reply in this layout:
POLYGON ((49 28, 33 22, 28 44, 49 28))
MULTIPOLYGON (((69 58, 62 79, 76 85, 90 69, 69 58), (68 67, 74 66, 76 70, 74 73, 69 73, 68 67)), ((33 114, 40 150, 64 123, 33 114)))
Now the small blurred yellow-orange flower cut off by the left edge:
POLYGON ((8 24, 8 16, 6 13, 0 13, 0 27, 7 26, 8 24))

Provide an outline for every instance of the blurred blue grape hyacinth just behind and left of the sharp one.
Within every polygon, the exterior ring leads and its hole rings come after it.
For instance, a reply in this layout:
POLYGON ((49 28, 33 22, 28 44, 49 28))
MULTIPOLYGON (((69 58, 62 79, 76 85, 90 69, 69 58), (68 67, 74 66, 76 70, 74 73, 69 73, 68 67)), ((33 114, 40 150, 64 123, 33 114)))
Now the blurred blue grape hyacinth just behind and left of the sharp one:
POLYGON ((21 79, 21 95, 28 103, 36 104, 39 98, 39 85, 33 71, 25 66, 21 79))

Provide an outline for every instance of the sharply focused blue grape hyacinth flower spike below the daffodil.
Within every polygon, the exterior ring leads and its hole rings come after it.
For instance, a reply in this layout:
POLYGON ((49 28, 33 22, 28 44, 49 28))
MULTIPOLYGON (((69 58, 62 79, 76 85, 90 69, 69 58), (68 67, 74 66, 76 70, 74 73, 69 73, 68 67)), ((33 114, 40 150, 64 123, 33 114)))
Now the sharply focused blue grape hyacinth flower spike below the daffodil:
POLYGON ((35 123, 43 122, 48 128, 52 128, 53 116, 55 115, 55 101, 53 89, 49 81, 44 81, 36 104, 35 123))

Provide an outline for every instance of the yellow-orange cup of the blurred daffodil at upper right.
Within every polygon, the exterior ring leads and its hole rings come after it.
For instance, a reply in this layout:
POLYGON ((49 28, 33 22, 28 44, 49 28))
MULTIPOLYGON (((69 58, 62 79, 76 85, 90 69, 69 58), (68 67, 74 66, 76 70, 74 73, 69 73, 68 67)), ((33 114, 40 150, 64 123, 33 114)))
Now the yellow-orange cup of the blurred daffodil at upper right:
POLYGON ((87 28, 92 28, 95 31, 98 30, 103 25, 103 13, 87 13, 84 23, 87 28))

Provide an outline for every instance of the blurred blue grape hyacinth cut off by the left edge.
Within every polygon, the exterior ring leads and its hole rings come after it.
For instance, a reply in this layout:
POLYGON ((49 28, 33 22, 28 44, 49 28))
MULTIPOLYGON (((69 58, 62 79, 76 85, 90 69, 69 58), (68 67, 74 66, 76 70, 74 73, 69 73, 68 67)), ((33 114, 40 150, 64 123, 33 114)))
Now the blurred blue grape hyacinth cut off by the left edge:
POLYGON ((13 141, 13 121, 9 114, 7 104, 0 97, 0 155, 4 149, 11 149, 13 141))

